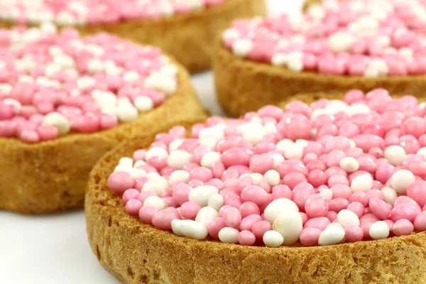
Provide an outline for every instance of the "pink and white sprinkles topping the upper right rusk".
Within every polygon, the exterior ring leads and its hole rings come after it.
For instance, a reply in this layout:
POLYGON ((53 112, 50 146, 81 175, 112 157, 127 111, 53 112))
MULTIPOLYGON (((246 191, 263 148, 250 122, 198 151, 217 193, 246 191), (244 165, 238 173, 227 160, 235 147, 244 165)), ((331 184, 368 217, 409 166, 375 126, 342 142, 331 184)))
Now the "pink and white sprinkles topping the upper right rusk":
POLYGON ((322 0, 302 15, 236 21, 234 55, 294 72, 364 77, 426 74, 426 1, 322 0))

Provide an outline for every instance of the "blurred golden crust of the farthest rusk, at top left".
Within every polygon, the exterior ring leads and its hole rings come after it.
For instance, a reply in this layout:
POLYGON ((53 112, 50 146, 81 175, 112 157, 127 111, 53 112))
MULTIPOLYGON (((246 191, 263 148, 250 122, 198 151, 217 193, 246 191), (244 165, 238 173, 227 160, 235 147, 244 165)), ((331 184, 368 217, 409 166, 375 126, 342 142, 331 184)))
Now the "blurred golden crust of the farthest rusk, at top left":
MULTIPOLYGON (((190 72, 198 72, 210 67, 213 40, 217 33, 235 18, 256 15, 266 15, 265 0, 227 0, 220 6, 170 18, 76 28, 82 35, 107 31, 136 43, 158 46, 173 55, 190 72)), ((3 26, 10 26, 10 23, 3 23, 3 26)))

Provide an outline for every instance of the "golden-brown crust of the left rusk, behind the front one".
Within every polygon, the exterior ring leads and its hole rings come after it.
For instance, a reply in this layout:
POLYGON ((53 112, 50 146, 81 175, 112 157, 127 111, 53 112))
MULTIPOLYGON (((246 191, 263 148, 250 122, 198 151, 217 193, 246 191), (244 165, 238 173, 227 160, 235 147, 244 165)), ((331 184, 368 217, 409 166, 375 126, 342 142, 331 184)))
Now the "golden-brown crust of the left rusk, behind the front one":
POLYGON ((179 67, 178 91, 135 121, 35 144, 0 138, 0 209, 38 214, 82 207, 90 170, 104 153, 131 136, 203 118, 187 71, 173 63, 179 67))

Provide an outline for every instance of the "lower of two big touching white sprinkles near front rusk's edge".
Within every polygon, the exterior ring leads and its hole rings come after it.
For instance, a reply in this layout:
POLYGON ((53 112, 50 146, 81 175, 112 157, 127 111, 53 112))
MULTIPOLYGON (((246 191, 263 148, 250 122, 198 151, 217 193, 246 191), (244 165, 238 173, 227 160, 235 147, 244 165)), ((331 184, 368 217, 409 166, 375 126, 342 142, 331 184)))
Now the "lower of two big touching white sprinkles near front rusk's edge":
POLYGON ((303 229, 302 217, 299 212, 287 209, 275 218, 273 222, 273 229, 278 231, 278 233, 284 237, 283 244, 286 246, 295 244, 303 229))

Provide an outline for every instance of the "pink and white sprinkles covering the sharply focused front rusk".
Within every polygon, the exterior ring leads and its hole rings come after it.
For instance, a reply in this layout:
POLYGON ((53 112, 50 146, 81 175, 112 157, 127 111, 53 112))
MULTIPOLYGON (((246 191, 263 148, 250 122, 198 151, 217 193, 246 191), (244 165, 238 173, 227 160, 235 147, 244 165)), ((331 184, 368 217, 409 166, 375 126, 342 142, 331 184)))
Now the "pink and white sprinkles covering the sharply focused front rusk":
POLYGON ((426 104, 384 89, 212 117, 122 158, 109 188, 158 229, 229 244, 339 244, 426 231, 426 104))

